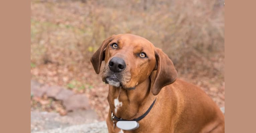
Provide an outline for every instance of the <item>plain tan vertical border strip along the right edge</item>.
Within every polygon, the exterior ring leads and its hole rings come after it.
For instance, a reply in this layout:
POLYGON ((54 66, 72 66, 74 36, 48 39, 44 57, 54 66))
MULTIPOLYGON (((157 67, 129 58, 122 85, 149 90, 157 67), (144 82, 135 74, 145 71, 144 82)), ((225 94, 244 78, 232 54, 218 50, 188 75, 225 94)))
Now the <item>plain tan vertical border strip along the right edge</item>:
POLYGON ((255 1, 225 1, 226 133, 256 130, 255 5, 255 1))

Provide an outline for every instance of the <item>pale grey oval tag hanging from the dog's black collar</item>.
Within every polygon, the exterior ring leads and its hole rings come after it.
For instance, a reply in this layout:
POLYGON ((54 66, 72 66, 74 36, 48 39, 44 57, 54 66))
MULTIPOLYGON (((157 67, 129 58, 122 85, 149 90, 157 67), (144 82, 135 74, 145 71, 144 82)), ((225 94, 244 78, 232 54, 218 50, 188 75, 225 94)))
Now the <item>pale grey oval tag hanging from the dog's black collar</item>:
POLYGON ((118 121, 116 126, 122 130, 134 130, 139 128, 140 124, 137 121, 118 121))

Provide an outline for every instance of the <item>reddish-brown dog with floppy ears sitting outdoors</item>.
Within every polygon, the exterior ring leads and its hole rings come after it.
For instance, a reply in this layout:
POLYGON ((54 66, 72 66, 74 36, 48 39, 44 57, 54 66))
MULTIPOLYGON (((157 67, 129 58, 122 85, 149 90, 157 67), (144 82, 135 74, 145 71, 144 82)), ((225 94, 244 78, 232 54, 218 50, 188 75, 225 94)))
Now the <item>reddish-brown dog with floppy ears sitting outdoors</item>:
POLYGON ((138 121, 139 128, 123 132, 224 132, 224 115, 215 102, 197 86, 176 79, 172 61, 145 38, 113 35, 91 58, 97 74, 104 60, 102 80, 109 84, 110 133, 122 132, 116 127, 117 119, 112 119, 112 112, 116 118, 133 120, 150 109, 138 121))

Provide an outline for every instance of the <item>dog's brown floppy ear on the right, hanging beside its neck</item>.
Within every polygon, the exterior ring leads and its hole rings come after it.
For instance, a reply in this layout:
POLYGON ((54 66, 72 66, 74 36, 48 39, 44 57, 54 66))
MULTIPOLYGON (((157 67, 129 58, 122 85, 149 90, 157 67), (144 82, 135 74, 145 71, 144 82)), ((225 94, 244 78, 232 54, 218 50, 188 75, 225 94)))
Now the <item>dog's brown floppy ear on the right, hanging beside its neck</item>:
POLYGON ((168 56, 163 53, 161 49, 155 48, 155 58, 156 58, 156 72, 151 73, 152 82, 152 93, 157 95, 161 88, 166 85, 173 83, 177 78, 177 71, 168 58, 168 56))

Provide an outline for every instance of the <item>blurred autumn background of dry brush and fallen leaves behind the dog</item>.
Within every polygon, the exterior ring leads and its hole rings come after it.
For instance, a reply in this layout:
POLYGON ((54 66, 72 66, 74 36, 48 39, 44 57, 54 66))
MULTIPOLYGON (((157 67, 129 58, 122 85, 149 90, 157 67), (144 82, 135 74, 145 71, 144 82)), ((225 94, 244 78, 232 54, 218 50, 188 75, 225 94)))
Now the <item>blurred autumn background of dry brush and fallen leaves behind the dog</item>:
POLYGON ((169 56, 179 78, 225 106, 224 13, 224 0, 32 0, 31 131, 46 128, 39 121, 47 119, 35 120, 41 112, 60 115, 56 126, 68 116, 72 125, 78 110, 105 120, 108 85, 90 58, 113 34, 146 38, 169 56))

